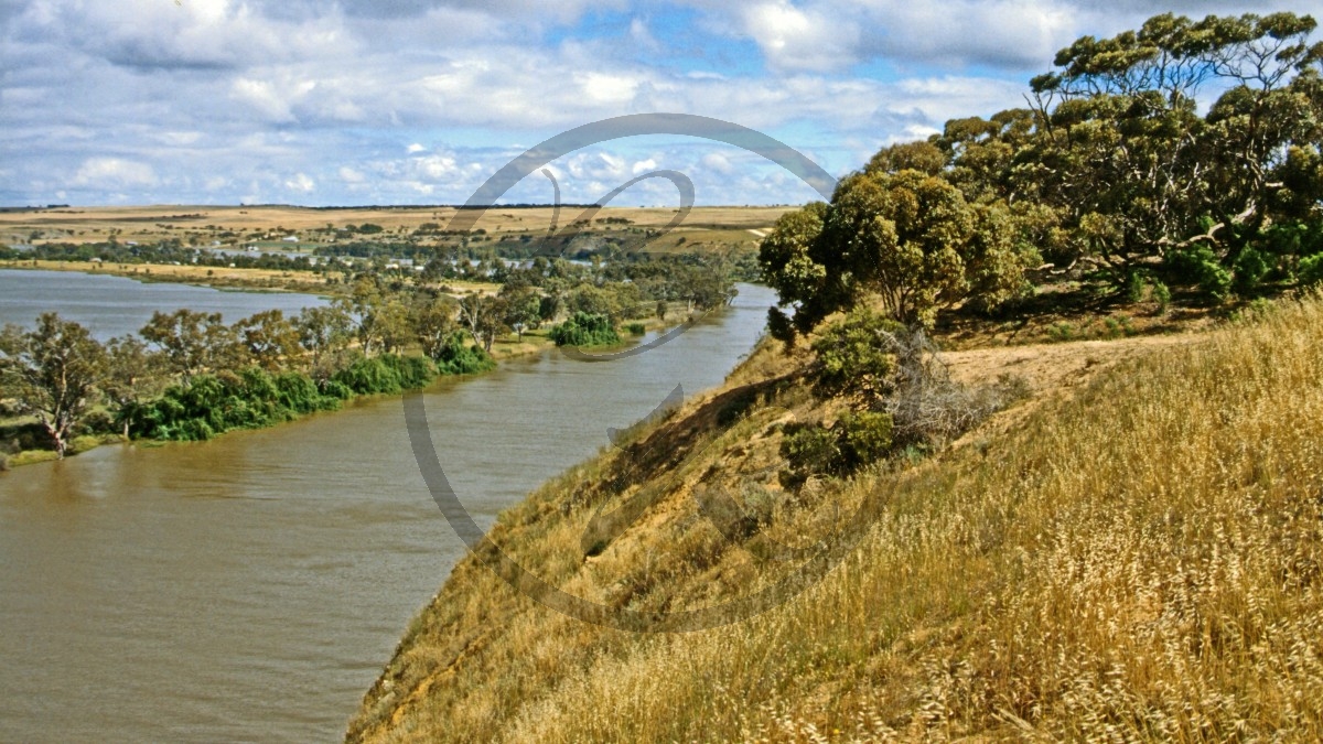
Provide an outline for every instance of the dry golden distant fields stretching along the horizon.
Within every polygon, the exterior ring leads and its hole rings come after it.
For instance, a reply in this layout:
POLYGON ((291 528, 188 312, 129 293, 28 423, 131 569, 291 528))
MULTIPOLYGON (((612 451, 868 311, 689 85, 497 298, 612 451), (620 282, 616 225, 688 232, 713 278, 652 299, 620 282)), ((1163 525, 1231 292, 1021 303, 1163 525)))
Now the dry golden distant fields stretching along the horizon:
MULTIPOLYGON (((658 241, 656 249, 751 248, 787 207, 703 207, 695 208, 673 233, 658 241), (680 238, 684 238, 683 241, 680 238)), ((671 222, 672 208, 606 208, 586 213, 564 207, 554 214, 549 207, 492 207, 468 224, 490 236, 544 234, 553 224, 565 228, 585 217, 586 230, 628 228, 658 229, 671 222)), ((369 240, 421 237, 419 228, 431 224, 446 230, 456 209, 451 207, 336 208, 303 207, 89 207, 0 210, 0 242, 26 245, 41 242, 157 242, 179 238, 185 245, 259 245, 306 250, 321 244, 347 226, 372 224, 382 228, 369 240), (298 237, 284 242, 283 236, 298 237)), ((466 220, 467 222, 467 220, 466 220)))

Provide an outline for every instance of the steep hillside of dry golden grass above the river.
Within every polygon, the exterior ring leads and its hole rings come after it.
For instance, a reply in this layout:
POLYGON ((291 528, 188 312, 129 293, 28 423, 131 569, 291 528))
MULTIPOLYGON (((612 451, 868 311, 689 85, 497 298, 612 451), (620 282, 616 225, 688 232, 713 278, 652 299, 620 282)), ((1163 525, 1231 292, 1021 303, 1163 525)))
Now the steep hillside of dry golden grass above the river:
MULTIPOLYGON (((798 494, 778 485, 781 426, 832 412, 796 384, 802 359, 761 348, 492 539, 638 612, 747 596, 790 569, 773 539, 851 544, 863 526, 839 565, 745 622, 630 633, 537 605, 470 556, 348 740, 1319 740, 1323 302, 1126 343, 1046 347, 1065 392, 1040 369, 1032 401, 941 455, 798 494), (585 551, 598 506, 644 490, 654 506, 585 551), (758 515, 734 541, 700 514, 716 492, 758 515)), ((966 376, 1025 353, 983 352, 966 376)))

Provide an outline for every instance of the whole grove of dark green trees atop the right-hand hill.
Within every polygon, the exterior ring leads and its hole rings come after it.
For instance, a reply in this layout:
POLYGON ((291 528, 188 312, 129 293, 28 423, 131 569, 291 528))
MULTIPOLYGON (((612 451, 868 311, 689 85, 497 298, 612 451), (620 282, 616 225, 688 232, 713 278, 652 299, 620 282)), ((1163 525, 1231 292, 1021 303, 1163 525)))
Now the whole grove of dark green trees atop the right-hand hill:
POLYGON ((763 241, 763 275, 794 308, 774 311, 773 331, 791 338, 860 302, 931 324, 943 307, 1015 299, 1033 269, 1117 289, 1162 273, 1215 302, 1312 275, 1315 26, 1294 13, 1154 16, 1062 49, 1024 109, 882 148, 763 241))

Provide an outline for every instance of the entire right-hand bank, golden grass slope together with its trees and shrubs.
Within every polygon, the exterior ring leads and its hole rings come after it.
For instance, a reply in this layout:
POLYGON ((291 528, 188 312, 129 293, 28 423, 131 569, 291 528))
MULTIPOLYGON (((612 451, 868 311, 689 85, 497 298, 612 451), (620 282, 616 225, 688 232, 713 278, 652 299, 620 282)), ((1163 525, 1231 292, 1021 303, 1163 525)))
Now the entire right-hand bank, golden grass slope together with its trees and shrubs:
POLYGON ((777 585, 796 551, 844 545, 840 563, 753 618, 635 633, 533 601, 484 545, 347 740, 1323 737, 1312 30, 1168 15, 1082 38, 1033 81, 1036 107, 889 147, 782 217, 759 261, 795 312, 773 311, 721 389, 488 537, 662 629, 777 585), (1225 93, 1199 116, 1212 78, 1225 93), (960 380, 934 348, 953 319, 1072 295, 1081 315, 1241 304, 1160 344, 980 349, 960 380), (1078 364, 1013 373, 1048 356, 1078 364))

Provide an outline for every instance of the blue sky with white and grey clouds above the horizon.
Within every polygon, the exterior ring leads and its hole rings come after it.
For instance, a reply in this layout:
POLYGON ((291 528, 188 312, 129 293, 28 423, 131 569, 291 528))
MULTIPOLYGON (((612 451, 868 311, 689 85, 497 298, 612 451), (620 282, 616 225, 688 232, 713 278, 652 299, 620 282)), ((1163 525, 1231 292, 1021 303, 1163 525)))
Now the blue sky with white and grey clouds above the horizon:
MULTIPOLYGON (((951 118, 1024 105, 1084 34, 1160 12, 1323 0, 0 0, 0 205, 458 204, 565 130, 679 113, 833 176, 951 118)), ((697 204, 818 193, 679 135, 585 147, 500 201, 593 203, 654 171, 697 204)), ((671 205, 646 177, 617 205, 671 205)))

